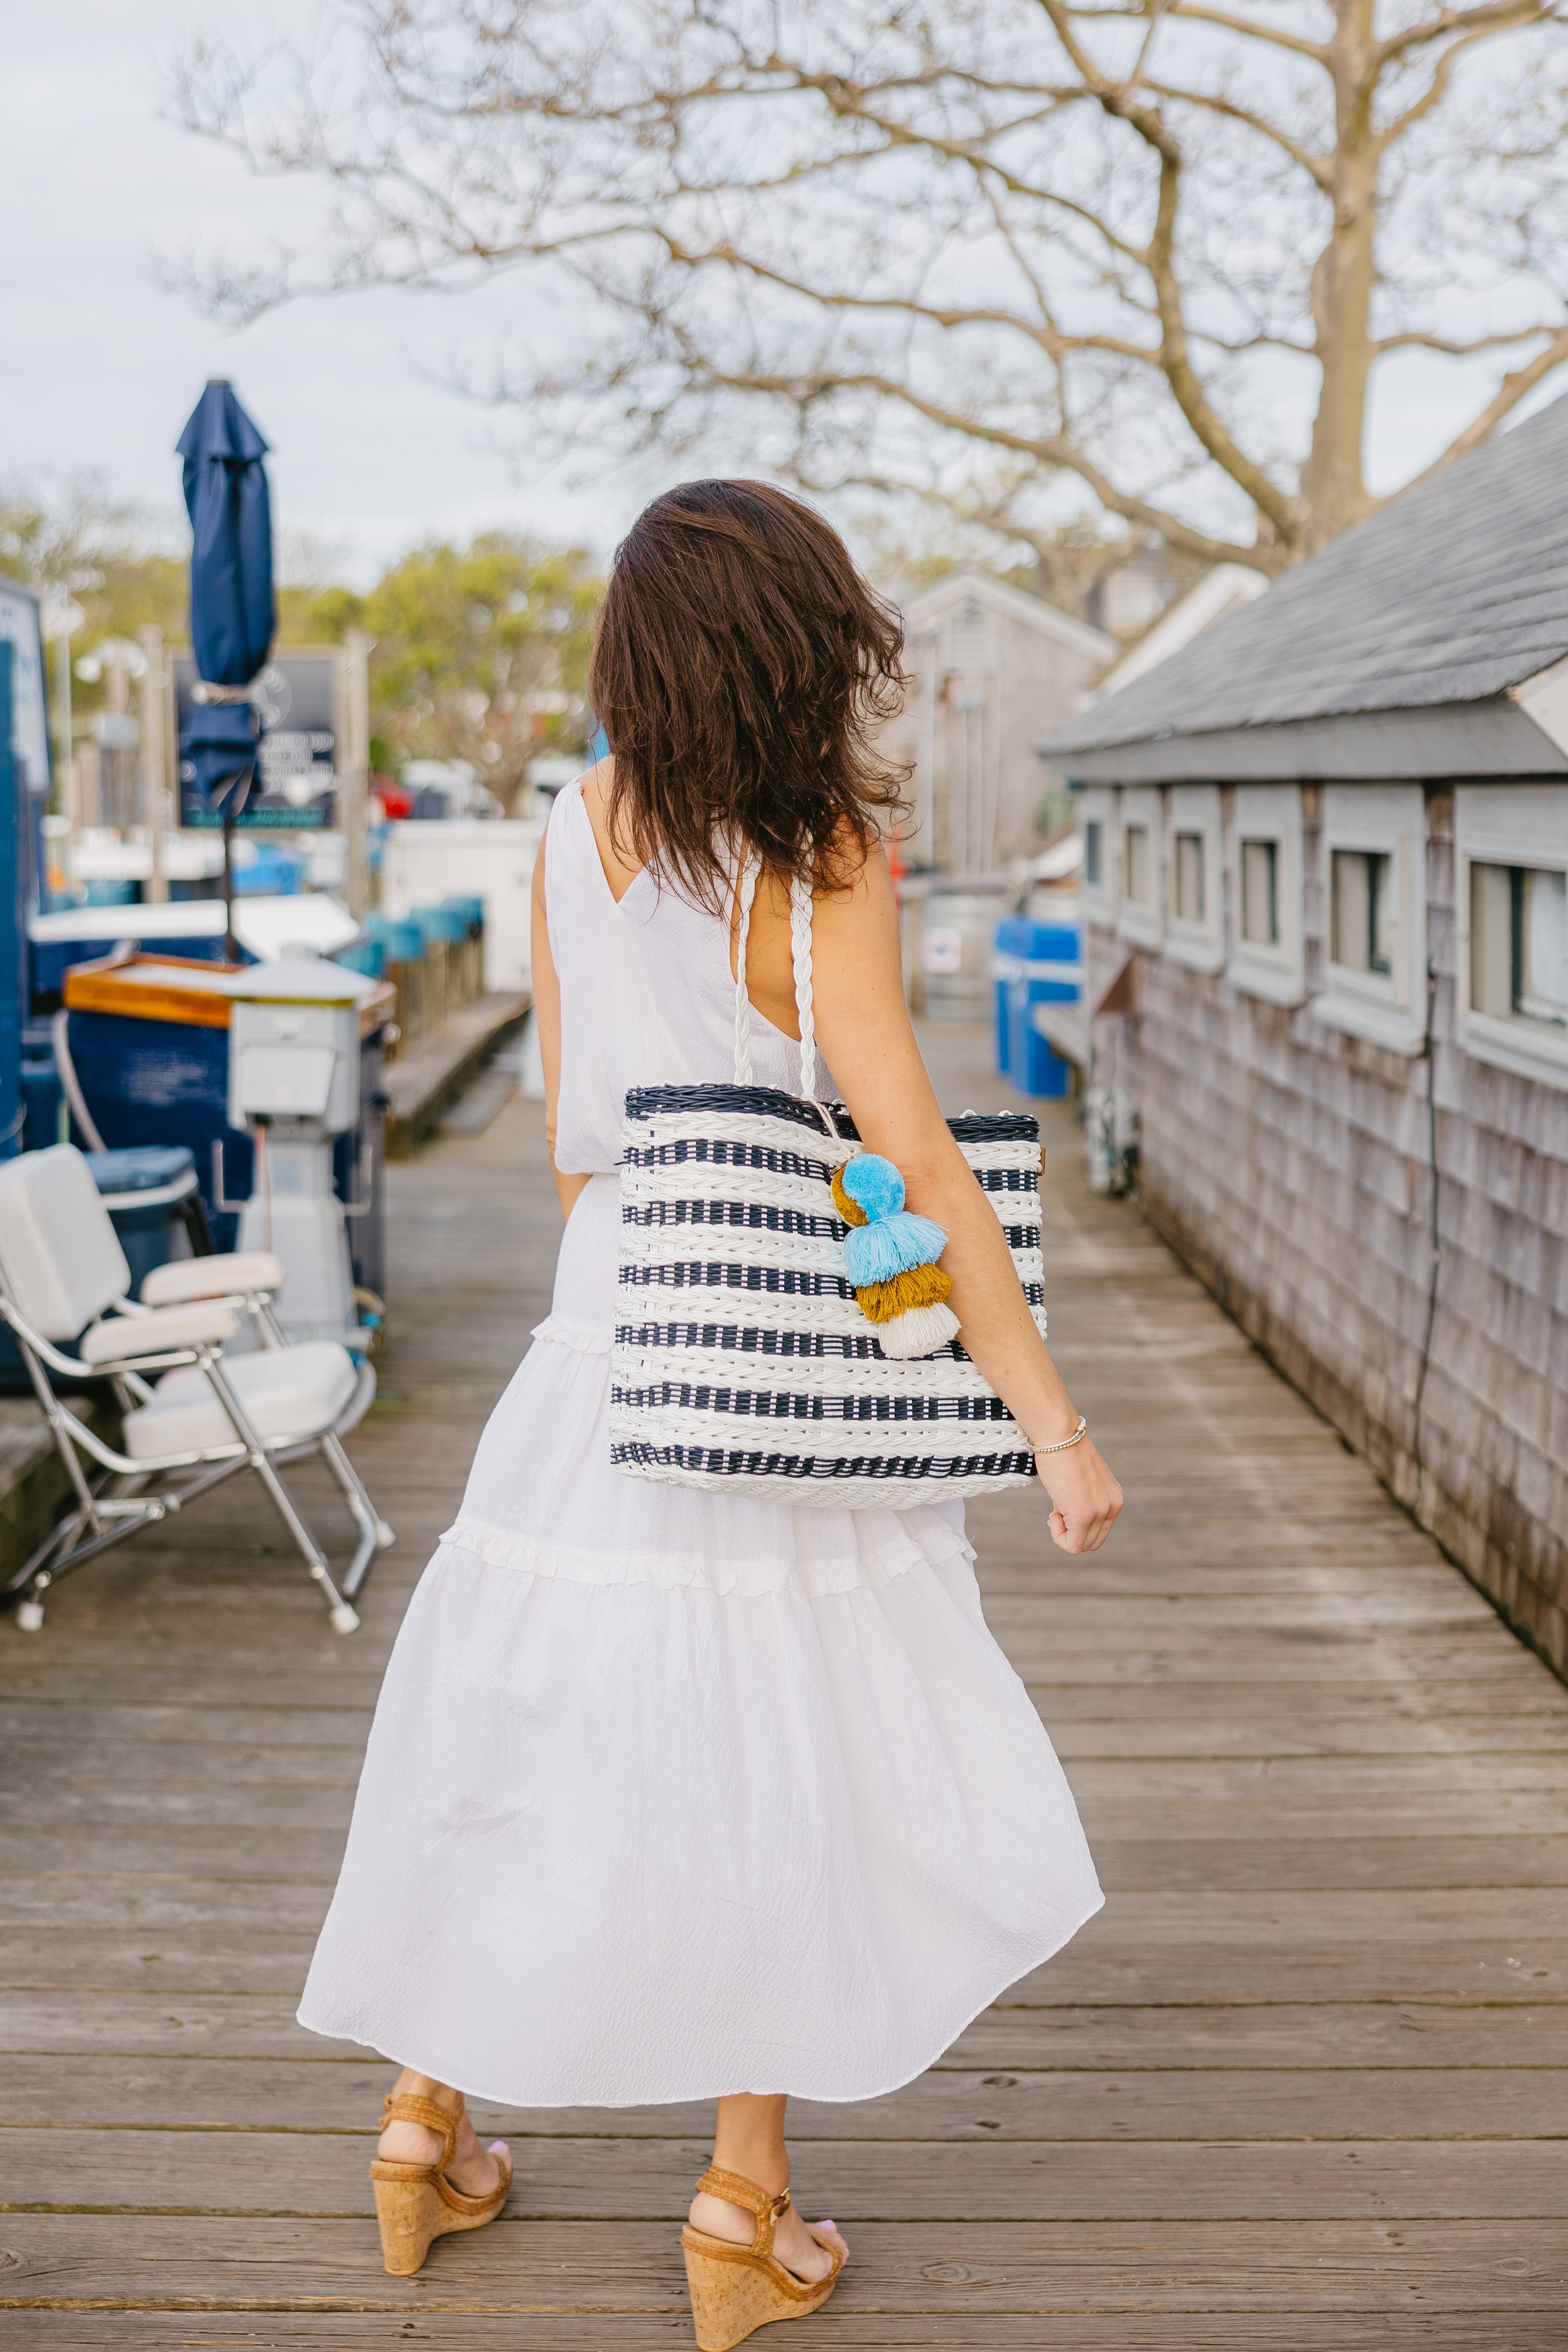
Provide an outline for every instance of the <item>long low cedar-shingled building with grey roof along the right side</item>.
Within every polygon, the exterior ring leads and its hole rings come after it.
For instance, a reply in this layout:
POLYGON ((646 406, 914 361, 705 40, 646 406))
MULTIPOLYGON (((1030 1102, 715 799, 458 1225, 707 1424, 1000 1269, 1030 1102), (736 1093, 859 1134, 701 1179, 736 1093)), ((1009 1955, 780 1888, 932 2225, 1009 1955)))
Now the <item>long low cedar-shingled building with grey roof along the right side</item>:
POLYGON ((1041 750, 1143 1204, 1568 1672, 1568 400, 1041 750))

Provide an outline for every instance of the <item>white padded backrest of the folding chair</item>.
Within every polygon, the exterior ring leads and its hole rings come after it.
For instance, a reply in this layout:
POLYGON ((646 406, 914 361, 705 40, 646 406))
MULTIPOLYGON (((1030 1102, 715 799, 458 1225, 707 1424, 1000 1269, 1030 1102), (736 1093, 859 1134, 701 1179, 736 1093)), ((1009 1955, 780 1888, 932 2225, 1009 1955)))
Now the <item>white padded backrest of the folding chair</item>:
POLYGON ((132 1270, 75 1143, 0 1164, 0 1282, 45 1338, 75 1334, 125 1298, 132 1270))

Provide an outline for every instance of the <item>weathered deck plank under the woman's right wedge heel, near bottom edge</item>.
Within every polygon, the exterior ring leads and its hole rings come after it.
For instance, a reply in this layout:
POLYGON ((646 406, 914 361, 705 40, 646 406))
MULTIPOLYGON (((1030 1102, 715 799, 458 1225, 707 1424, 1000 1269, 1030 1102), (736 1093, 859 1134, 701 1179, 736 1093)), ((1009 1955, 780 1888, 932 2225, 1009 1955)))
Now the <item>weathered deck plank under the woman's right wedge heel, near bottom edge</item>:
MULTIPOLYGON (((952 2154, 954 2169, 961 2154, 952 2154)), ((501 2220, 473 2246, 440 2241, 416 2279, 388 2279, 362 2220, 268 2216, 75 2216, 7 2220, 24 2249, 5 2274, 12 2307, 96 2303, 106 2314, 143 2310, 339 2310, 440 2317, 440 2343, 465 2338, 465 2317, 512 2317, 510 2345, 534 2352, 538 2317, 599 2314, 583 2343, 618 2352, 625 2314, 684 2314, 679 2244, 668 2223, 501 2220), (517 2319, 527 2317, 527 2336, 517 2319)), ((1552 2317, 1568 2296, 1563 2232, 1540 2220, 1199 2220, 1150 2223, 875 2223, 856 2234, 860 2277, 835 2298, 849 2314, 1013 2321, 1048 2319, 1016 2343, 1072 2345, 1079 2314, 1135 2312, 1288 2319, 1312 2345, 1316 2314, 1450 2312, 1493 2321, 1497 2352, 1516 2352, 1512 2314, 1552 2317)), ((797 2321, 792 2345, 832 2347, 830 2321, 797 2321)), ((491 2333, 491 2343, 498 2331, 491 2333)), ((353 2338, 350 2338, 353 2340, 353 2338)), ((677 2338, 679 2340, 679 2338, 677 2338)), ((863 2338, 867 2340, 867 2338, 863 2338)), ((877 2338, 870 2336, 875 2343, 877 2338)), ((931 2338, 943 2343, 943 2336, 931 2338)), ((994 2326, 992 2343, 1006 2343, 994 2326)), ((1095 2338, 1088 2338, 1091 2343, 1095 2338)), ((1100 2333, 1098 2343, 1124 2343, 1100 2333)), ((1159 2338, 1154 2338, 1159 2340, 1159 2338)), ((1187 2338, 1194 2340, 1192 2336, 1187 2338)), ((1232 2338, 1234 2340, 1234 2338, 1232 2338)), ((1258 2338, 1251 2338, 1253 2343, 1258 2338)), ((1276 2343, 1284 2343, 1284 2331, 1276 2343)), ((1345 2340, 1345 2338, 1340 2338, 1345 2340)), ((1418 2340, 1418 2338, 1415 2338, 1418 2340)), ((1446 2340, 1434 2333, 1434 2340, 1446 2340)), ((96 2345, 120 2343, 110 2317, 96 2345)), ((1204 2336, 1197 2336, 1204 2343, 1204 2336)))

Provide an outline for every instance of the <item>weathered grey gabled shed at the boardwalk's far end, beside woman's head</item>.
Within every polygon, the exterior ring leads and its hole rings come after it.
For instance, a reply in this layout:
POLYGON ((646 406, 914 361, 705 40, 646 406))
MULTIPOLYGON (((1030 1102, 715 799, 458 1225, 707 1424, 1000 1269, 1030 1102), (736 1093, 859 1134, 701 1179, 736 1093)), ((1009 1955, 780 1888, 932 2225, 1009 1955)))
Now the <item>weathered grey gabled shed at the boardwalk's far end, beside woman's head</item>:
POLYGON ((1117 640, 987 572, 954 572, 903 614, 912 691, 882 748, 914 769, 905 861, 983 875, 1032 856, 1058 783, 1039 739, 1077 710, 1117 640))

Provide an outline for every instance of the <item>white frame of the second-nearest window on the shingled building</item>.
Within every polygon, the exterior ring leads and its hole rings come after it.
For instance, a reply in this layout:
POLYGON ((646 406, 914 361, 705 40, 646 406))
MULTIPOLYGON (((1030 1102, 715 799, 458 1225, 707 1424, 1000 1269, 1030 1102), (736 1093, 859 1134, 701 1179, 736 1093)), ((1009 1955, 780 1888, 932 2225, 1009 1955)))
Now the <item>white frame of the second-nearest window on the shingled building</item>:
POLYGON ((1326 783, 1321 809, 1324 993, 1312 1000, 1312 1016, 1392 1054, 1420 1054, 1427 1042, 1427 795, 1420 783, 1326 783), (1333 960, 1335 849, 1389 858, 1394 946, 1387 974, 1333 960))

